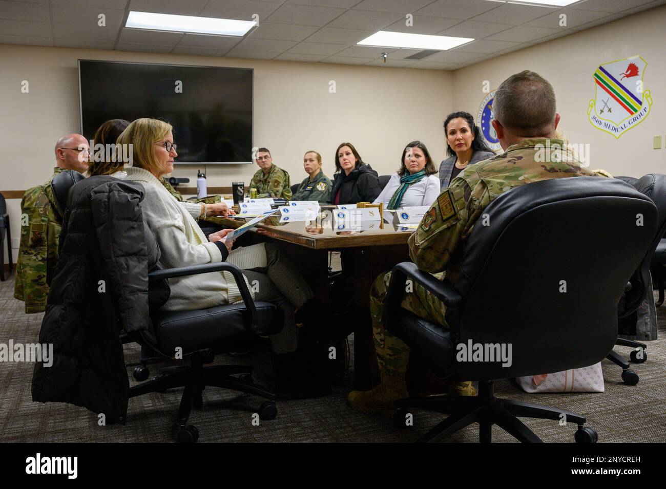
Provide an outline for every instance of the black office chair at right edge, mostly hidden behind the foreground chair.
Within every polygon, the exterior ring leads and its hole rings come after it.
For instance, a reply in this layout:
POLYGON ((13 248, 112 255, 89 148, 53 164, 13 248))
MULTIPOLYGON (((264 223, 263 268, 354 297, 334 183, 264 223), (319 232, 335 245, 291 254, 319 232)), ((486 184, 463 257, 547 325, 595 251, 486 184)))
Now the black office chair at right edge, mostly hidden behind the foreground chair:
MULTIPOLYGON (((666 176, 661 174, 647 174, 642 176, 639 179, 633 177, 618 177, 620 180, 623 180, 629 183, 631 186, 636 188, 641 194, 649 197, 655 206, 657 206, 657 232, 653 237, 653 241, 645 252, 645 256, 641 260, 641 263, 631 275, 629 279, 629 284, 631 287, 627 287, 627 291, 623 295, 619 306, 618 306, 618 315, 620 319, 620 333, 621 334, 633 334, 628 331, 623 331, 625 325, 631 327, 636 324, 637 315, 636 311, 640 307, 641 303, 646 299, 646 293, 649 290, 650 283, 650 271, 657 255, 659 259, 659 253, 657 253, 657 248, 659 247, 661 238, 663 238, 664 233, 666 232, 666 176)), ((651 297, 649 300, 653 300, 651 297)), ((624 338, 617 338, 615 343, 619 346, 632 347, 634 348, 631 351, 629 357, 631 361, 635 363, 643 363, 647 360, 647 345, 639 341, 633 341, 624 338), (639 354, 640 352, 640 354, 639 354)), ((622 367, 622 380, 627 385, 636 385, 639 382, 639 377, 637 373, 629 369, 629 362, 627 362, 619 353, 611 351, 607 357, 610 361, 622 367)))

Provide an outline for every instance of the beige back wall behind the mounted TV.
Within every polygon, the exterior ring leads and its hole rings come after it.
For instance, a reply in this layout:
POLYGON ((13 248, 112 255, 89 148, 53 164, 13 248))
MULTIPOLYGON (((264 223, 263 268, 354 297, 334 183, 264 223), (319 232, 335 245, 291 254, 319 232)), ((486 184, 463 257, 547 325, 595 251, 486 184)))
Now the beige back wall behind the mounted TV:
MULTIPOLYGON (((56 140, 79 132, 77 59, 254 68, 254 145, 270 148, 292 184, 306 176, 302 156, 309 149, 322 154, 332 178, 333 154, 342 141, 352 142, 380 174, 396 170, 404 144, 414 139, 424 141, 438 162, 444 158, 450 72, 0 45, 0 190, 25 190, 46 180, 56 140), (23 80, 29 81, 27 94, 21 93, 23 80), (335 93, 328 91, 331 80, 335 93)), ((187 176, 194 185, 197 169, 176 165, 174 175, 187 176)), ((247 164, 205 168, 208 186, 249 183, 256 169, 247 164)), ((19 204, 9 201, 15 237, 19 204)))

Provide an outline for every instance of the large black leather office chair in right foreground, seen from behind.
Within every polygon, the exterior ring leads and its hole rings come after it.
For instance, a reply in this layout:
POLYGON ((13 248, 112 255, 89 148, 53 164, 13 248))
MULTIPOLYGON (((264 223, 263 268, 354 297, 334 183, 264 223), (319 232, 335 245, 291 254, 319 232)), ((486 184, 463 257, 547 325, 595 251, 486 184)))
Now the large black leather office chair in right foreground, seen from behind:
POLYGON ((421 441, 440 440, 477 422, 482 442, 491 441, 492 424, 521 442, 539 442, 516 416, 560 420, 564 414, 578 426, 577 442, 596 442, 580 414, 497 399, 493 381, 585 367, 608 354, 627 277, 656 232, 655 205, 618 180, 576 177, 514 188, 484 212, 490 226, 474 226, 454 285, 414 263, 400 263, 384 308, 389 331, 439 377, 478 380, 478 396, 401 399, 394 404, 396 424, 404 426, 410 408, 425 408, 450 416, 421 441), (636 226, 636 214, 643 214, 644 226, 636 226), (407 277, 446 304, 449 329, 400 307, 407 277), (459 345, 470 341, 511 344, 511 365, 457 361, 459 345))

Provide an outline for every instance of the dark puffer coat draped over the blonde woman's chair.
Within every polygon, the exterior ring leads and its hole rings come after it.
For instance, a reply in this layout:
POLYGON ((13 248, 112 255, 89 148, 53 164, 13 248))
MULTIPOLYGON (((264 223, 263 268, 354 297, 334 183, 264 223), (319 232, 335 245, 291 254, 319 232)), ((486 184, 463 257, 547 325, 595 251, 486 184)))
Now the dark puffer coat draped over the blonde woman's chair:
POLYGON ((119 333, 149 327, 148 271, 159 259, 141 200, 141 184, 111 176, 71 188, 39 333, 40 343, 53 343, 53 365, 35 365, 33 401, 125 420, 129 381, 119 333))

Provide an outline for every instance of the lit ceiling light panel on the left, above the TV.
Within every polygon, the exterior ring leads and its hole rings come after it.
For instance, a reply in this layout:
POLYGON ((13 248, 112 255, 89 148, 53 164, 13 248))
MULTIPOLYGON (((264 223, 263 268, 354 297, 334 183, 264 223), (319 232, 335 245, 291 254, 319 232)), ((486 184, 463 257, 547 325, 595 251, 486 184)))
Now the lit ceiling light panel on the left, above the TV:
POLYGON ((192 17, 190 15, 137 11, 131 11, 129 17, 127 17, 127 23, 125 23, 125 27, 131 29, 223 36, 243 36, 254 25, 254 21, 236 21, 233 19, 214 19, 212 17, 192 17))

